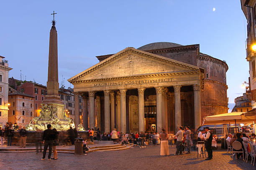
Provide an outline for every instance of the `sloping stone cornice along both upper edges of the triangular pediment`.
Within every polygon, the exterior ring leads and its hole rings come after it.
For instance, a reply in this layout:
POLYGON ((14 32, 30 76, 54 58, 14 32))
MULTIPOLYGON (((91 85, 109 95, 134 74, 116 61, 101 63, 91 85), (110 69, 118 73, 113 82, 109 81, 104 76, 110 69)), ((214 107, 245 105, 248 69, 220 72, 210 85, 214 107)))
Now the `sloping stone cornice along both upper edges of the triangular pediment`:
POLYGON ((122 50, 122 51, 116 53, 115 55, 113 55, 113 57, 107 58, 107 59, 103 60, 102 62, 99 62, 95 66, 92 66, 89 69, 85 70, 84 72, 81 72, 79 75, 69 78, 68 81, 73 83, 74 81, 77 81, 80 78, 84 77, 85 75, 88 75, 88 74, 100 69, 101 67, 108 65, 109 63, 113 62, 114 60, 117 60, 118 58, 120 58, 123 55, 126 55, 128 53, 140 55, 141 57, 147 57, 147 58, 150 58, 151 60, 164 62, 169 65, 174 65, 177 67, 184 68, 186 70, 191 70, 191 71, 198 70, 198 68, 196 68, 196 66, 195 67, 192 65, 189 66, 188 64, 185 64, 185 63, 182 64, 182 62, 179 62, 179 61, 176 62, 174 60, 168 59, 166 57, 162 57, 160 55, 155 55, 155 54, 151 54, 149 52, 143 52, 141 50, 136 50, 134 48, 128 47, 125 50, 122 50))

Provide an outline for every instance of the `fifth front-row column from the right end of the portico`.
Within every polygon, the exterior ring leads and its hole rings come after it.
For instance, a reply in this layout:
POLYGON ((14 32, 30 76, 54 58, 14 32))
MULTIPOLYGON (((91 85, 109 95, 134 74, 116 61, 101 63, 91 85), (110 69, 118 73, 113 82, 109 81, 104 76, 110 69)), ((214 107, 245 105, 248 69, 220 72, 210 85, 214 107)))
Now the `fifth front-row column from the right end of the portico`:
POLYGON ((121 105, 121 132, 126 133, 126 91, 120 90, 120 105, 121 105))

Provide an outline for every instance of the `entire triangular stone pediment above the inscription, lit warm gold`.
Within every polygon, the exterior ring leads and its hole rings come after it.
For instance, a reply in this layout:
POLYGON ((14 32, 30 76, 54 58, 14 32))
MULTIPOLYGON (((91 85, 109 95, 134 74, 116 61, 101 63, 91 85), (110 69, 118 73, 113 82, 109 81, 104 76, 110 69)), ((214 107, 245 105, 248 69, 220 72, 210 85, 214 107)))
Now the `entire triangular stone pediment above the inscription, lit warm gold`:
POLYGON ((198 71, 199 67, 127 47, 68 79, 69 82, 198 71))

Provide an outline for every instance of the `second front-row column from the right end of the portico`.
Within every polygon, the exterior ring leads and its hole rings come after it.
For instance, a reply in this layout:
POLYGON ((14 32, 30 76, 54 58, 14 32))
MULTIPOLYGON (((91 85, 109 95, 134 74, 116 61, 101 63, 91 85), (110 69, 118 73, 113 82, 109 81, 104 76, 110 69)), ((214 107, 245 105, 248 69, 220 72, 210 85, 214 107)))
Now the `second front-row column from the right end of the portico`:
POLYGON ((175 99, 175 132, 181 126, 181 106, 180 106, 180 85, 174 86, 174 99, 175 99))

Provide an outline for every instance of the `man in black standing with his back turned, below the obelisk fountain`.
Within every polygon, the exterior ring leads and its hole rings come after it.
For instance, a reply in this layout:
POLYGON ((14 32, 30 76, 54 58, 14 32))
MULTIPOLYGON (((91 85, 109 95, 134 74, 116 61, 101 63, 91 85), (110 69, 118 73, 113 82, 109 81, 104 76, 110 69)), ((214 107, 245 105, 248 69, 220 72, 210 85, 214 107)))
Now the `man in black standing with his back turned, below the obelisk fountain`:
POLYGON ((44 130, 44 134, 43 134, 44 152, 43 152, 43 158, 41 158, 41 160, 45 160, 46 150, 48 146, 49 146, 48 160, 51 160, 51 150, 52 150, 53 141, 54 141, 54 134, 55 134, 54 130, 51 130, 51 125, 48 124, 47 129, 44 130))

